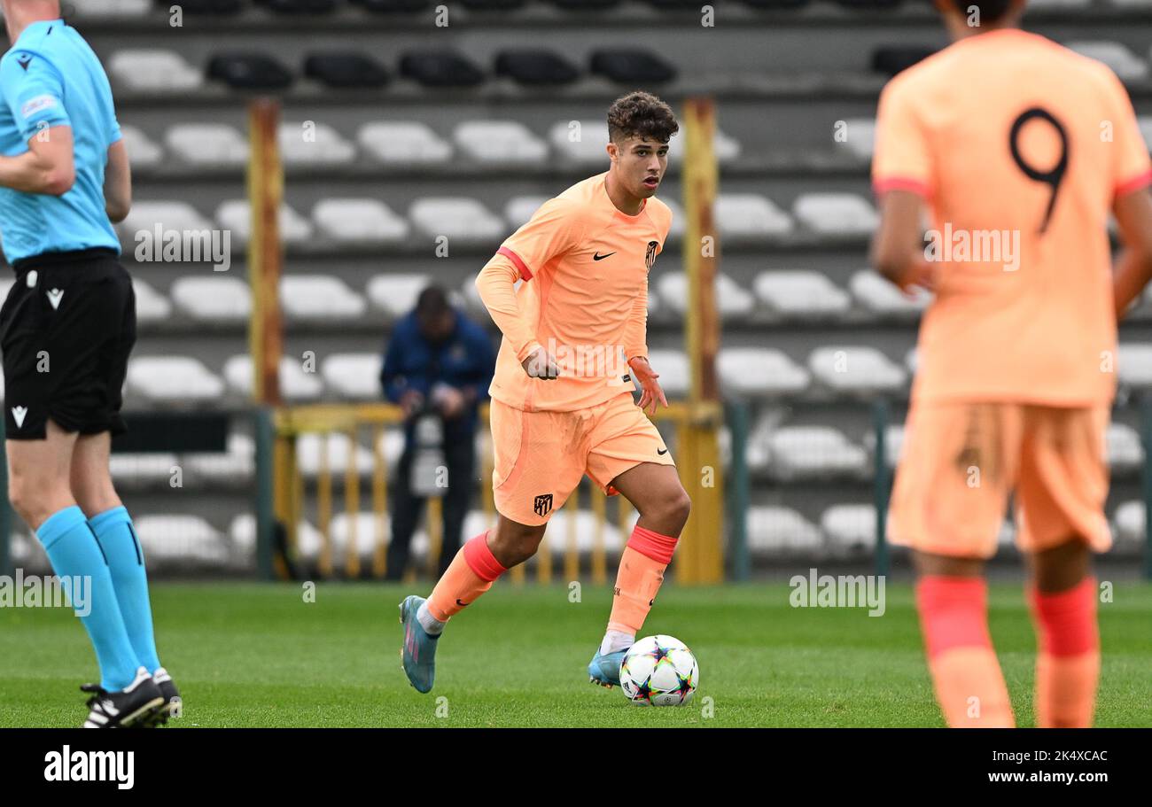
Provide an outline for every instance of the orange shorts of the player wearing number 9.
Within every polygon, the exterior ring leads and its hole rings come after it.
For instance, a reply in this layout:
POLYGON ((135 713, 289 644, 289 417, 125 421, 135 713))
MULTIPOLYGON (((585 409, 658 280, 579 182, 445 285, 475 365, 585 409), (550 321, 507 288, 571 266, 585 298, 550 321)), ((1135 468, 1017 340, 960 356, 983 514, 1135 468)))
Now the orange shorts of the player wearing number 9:
POLYGON ((933 555, 992 557, 1015 492, 1016 546, 1077 536, 1107 551, 1108 406, 912 404, 888 540, 933 555))

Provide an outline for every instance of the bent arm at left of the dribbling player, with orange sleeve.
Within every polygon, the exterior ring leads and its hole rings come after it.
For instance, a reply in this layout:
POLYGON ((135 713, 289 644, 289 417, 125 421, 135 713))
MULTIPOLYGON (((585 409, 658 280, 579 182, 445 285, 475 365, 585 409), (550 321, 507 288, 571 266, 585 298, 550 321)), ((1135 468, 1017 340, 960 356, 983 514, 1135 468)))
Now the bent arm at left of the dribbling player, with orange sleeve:
POLYGON ((515 283, 518 280, 530 282, 550 260, 576 246, 582 226, 574 201, 560 197, 548 199, 528 223, 505 241, 476 279, 476 290, 492 321, 531 378, 554 379, 559 371, 553 357, 537 341, 535 323, 521 311, 515 283))

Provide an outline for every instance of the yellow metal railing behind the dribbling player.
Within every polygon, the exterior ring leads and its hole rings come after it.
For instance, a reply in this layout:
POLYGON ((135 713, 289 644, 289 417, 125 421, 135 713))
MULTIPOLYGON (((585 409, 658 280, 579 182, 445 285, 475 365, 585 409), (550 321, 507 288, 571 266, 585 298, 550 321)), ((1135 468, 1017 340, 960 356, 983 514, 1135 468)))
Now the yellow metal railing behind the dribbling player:
MULTIPOLYGON (((673 403, 661 409, 654 416, 657 422, 672 422, 675 435, 672 444, 676 456, 676 465, 681 482, 692 497, 692 515, 681 535, 675 562, 677 580, 684 583, 714 583, 722 577, 722 502, 723 480, 720 457, 717 456, 715 432, 721 422, 719 404, 703 402, 697 404, 673 403)), ((487 405, 480 408, 482 422, 487 421, 487 405)), ((359 578, 365 571, 371 577, 381 578, 387 568, 388 546, 388 469, 384 456, 384 435, 389 427, 400 426, 403 414, 392 404, 314 404, 302 406, 283 406, 275 411, 274 429, 274 512, 285 525, 289 547, 295 551, 300 547, 300 525, 305 520, 305 485, 300 469, 297 442, 301 435, 318 435, 319 457, 314 489, 314 521, 320 536, 317 556, 317 572, 321 577, 332 577, 336 570, 350 578, 359 578), (335 557, 335 543, 332 535, 334 479, 336 474, 329 457, 329 436, 342 434, 348 440, 348 452, 343 474, 343 512, 347 513, 347 541, 344 557, 335 557), (359 439, 369 435, 372 452, 370 474, 372 540, 371 565, 365 570, 362 562, 361 541, 358 540, 358 515, 362 503, 362 472, 357 465, 359 439), (342 563, 340 562, 342 559, 342 563)), ((485 428, 484 434, 488 432, 485 428)), ((495 505, 492 496, 492 442, 491 437, 483 442, 480 455, 480 495, 483 510, 490 524, 495 524, 495 505)), ((336 473, 340 473, 338 470, 336 473)), ((366 474, 369 475, 369 474, 366 474)), ((606 526, 608 524, 607 497, 596 486, 582 486, 589 498, 589 510, 592 513, 591 548, 588 553, 588 574, 593 583, 602 584, 608 577, 608 547, 606 526)), ((577 521, 582 490, 577 489, 569 496, 563 510, 567 512, 562 534, 556 534, 553 527, 540 543, 536 556, 536 580, 550 583, 553 580, 554 554, 563 547, 562 570, 564 580, 576 580, 581 577, 579 530, 577 521)), ((621 539, 631 531, 635 511, 621 496, 617 500, 615 520, 621 539)), ((430 573, 434 573, 441 546, 441 502, 439 497, 429 498, 425 510, 425 524, 429 534, 430 573)), ((468 538, 467 535, 464 538, 468 538)), ((523 583, 528 578, 525 565, 510 571, 514 583, 523 583)))

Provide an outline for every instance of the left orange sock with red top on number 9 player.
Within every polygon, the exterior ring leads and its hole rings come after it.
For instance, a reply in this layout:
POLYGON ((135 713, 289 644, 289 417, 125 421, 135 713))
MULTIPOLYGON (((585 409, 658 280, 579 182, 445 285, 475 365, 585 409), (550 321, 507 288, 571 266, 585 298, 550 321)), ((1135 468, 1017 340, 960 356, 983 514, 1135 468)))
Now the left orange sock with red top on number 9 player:
POLYGON ((988 586, 982 578, 926 574, 916 607, 937 700, 952 728, 1015 725, 988 634, 988 586))

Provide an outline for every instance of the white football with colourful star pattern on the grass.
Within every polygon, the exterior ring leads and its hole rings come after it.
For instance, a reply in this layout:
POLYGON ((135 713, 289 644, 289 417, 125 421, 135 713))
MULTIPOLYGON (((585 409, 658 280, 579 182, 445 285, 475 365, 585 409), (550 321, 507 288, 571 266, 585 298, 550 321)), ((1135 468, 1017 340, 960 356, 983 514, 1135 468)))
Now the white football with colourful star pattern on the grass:
POLYGON ((662 633, 637 641, 620 664, 620 688, 638 706, 683 706, 699 683, 696 656, 680 639, 662 633))

